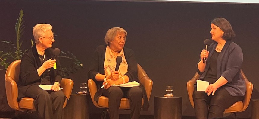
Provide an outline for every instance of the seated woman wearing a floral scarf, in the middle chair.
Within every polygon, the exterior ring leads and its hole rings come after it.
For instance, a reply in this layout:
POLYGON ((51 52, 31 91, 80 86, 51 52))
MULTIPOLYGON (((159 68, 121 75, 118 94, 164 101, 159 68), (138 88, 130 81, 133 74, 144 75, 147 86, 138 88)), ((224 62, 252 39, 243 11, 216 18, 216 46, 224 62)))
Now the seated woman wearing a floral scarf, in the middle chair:
POLYGON ((101 95, 109 98, 111 119, 119 119, 120 100, 123 97, 130 99, 130 117, 132 119, 140 117, 142 98, 144 98, 144 109, 148 108, 144 87, 123 88, 111 86, 132 81, 139 82, 137 62, 133 50, 124 48, 126 36, 127 32, 123 28, 113 27, 109 29, 105 36, 107 45, 100 45, 96 48, 88 72, 88 78, 93 79, 98 88, 104 85, 104 88, 98 89, 94 100, 98 102, 101 95), (119 70, 115 71, 117 56, 122 57, 122 62, 119 70))

